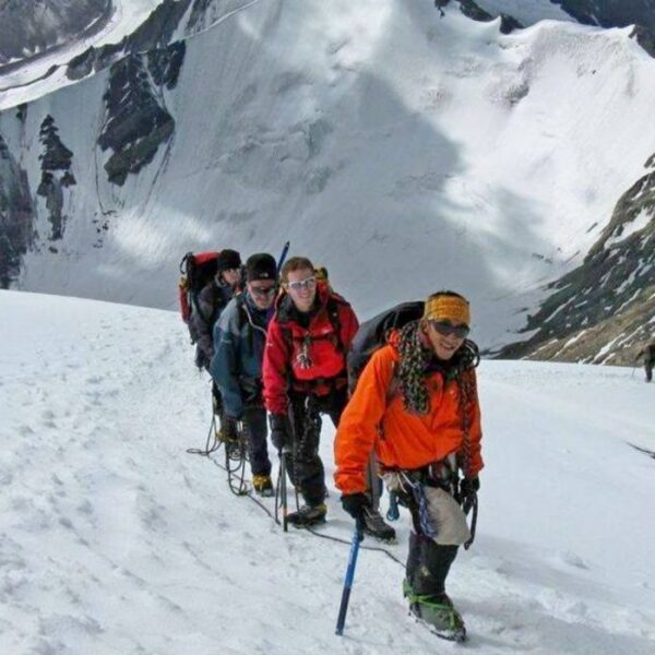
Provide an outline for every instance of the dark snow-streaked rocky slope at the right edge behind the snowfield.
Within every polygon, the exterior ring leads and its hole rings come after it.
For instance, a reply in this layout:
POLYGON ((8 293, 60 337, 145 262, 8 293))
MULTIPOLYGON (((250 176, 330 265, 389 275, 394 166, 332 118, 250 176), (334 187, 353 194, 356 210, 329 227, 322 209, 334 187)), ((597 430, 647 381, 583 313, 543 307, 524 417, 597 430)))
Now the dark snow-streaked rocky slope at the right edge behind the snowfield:
POLYGON ((528 318, 531 338, 501 357, 631 365, 655 335, 655 155, 579 269, 528 318))

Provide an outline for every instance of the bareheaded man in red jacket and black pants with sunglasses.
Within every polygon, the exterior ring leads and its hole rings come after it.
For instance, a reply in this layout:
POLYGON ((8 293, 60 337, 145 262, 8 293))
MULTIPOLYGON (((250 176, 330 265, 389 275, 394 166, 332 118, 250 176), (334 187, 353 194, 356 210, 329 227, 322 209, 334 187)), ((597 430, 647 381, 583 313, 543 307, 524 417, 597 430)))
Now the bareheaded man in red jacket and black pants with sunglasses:
MULTIPOLYGON (((298 527, 325 521, 325 471, 319 455, 321 414, 336 427, 348 397, 346 353, 358 321, 350 305, 317 281, 313 264, 295 257, 282 267, 284 293, 269 326, 264 398, 271 439, 285 457, 305 504, 287 516, 298 527)), ((373 512, 369 527, 384 525, 373 512)))

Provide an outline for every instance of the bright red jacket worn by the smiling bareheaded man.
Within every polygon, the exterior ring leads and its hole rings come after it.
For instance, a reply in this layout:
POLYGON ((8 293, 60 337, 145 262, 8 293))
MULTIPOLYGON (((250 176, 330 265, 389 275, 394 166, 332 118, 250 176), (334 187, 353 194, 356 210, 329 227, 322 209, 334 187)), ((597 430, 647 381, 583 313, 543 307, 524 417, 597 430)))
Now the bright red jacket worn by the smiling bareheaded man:
POLYGON ((359 327, 357 317, 325 284, 319 283, 317 297, 320 307, 307 317, 307 327, 287 295, 277 299, 263 362, 264 400, 272 414, 286 414, 289 385, 323 395, 347 384, 346 354, 359 327))

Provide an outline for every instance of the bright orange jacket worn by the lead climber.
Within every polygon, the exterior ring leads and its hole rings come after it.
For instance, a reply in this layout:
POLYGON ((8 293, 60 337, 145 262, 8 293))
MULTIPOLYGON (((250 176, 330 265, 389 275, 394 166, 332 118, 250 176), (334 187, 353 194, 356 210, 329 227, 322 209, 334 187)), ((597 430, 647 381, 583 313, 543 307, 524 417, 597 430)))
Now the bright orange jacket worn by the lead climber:
MULTIPOLYGON (((440 371, 428 373, 430 410, 425 416, 409 414, 400 392, 388 398, 388 390, 398 362, 393 345, 377 350, 364 369, 357 389, 341 417, 334 441, 334 480, 343 493, 365 491, 368 456, 374 448, 382 468, 420 468, 461 453, 463 445, 460 390, 456 380, 444 386, 440 371)), ((475 369, 463 374, 473 376, 475 369)), ((480 455, 480 408, 477 392, 471 407, 469 476, 483 468, 480 455)))

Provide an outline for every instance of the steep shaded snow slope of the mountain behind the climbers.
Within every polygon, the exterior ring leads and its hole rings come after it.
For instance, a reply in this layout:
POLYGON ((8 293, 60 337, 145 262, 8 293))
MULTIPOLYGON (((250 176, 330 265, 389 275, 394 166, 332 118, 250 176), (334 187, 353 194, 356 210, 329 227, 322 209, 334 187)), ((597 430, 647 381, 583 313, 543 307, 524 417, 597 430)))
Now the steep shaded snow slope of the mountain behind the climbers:
POLYGON ((177 87, 156 90, 175 133, 123 187, 96 145, 107 71, 24 122, 0 116, 33 189, 47 115, 78 181, 61 241, 36 198, 19 286, 171 308, 188 250, 290 239, 362 315, 408 284, 454 287, 498 347, 655 152, 655 60, 628 34, 543 21, 504 36, 429 0, 249 2, 187 40, 177 87))

